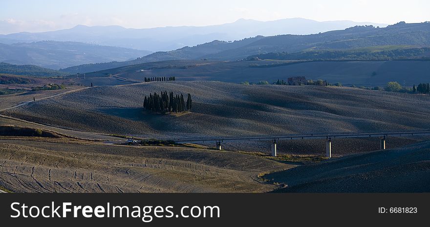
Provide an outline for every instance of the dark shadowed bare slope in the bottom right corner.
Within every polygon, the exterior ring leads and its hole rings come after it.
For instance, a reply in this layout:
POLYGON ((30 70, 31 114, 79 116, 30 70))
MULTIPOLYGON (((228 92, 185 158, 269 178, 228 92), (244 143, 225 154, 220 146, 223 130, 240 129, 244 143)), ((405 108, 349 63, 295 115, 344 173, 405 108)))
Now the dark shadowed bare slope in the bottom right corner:
POLYGON ((276 192, 430 192, 430 141, 301 165, 264 176, 276 192))

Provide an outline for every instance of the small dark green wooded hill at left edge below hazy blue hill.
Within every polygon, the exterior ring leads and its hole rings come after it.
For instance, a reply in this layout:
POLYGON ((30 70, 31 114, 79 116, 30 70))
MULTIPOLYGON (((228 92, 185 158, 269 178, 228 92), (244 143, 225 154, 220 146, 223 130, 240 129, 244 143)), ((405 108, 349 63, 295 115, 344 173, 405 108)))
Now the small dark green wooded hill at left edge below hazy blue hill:
POLYGON ((66 72, 42 68, 35 65, 16 65, 0 62, 0 73, 33 77, 64 77, 66 72))

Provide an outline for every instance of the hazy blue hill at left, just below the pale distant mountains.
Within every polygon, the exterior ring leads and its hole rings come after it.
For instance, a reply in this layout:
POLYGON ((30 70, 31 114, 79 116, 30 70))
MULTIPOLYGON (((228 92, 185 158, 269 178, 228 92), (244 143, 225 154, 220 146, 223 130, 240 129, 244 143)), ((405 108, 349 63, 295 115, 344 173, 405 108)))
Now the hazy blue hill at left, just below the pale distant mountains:
POLYGON ((33 64, 51 69, 97 62, 128 61, 150 51, 101 46, 80 42, 38 41, 0 43, 0 62, 33 64))

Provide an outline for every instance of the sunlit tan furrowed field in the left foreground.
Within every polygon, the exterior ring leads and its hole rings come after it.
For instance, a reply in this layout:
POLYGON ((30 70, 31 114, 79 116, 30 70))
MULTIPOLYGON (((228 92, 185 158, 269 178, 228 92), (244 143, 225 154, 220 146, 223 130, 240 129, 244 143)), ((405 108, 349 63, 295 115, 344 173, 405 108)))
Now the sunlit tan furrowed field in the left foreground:
POLYGON ((13 192, 267 192, 258 176, 294 165, 189 147, 0 139, 0 186, 13 192))

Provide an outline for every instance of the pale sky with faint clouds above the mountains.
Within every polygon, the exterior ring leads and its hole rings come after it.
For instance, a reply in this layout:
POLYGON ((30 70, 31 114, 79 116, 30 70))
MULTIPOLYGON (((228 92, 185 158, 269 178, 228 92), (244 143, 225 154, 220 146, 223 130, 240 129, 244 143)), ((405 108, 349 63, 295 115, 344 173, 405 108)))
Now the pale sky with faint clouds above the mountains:
POLYGON ((204 26, 238 19, 430 21, 429 0, 0 0, 0 34, 78 24, 127 28, 204 26))

